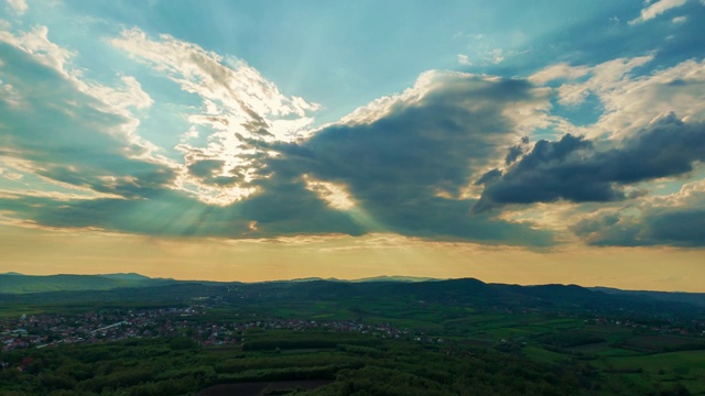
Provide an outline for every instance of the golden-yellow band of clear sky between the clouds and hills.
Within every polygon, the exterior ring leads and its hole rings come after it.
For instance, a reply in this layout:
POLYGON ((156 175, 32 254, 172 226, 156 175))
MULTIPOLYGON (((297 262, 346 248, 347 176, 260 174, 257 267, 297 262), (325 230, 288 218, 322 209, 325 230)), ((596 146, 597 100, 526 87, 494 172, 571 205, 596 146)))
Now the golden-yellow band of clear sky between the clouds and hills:
POLYGON ((566 246, 542 252, 389 233, 232 241, 17 227, 0 228, 0 238, 8 242, 1 271, 25 275, 134 272, 181 280, 248 283, 400 275, 705 292, 702 253, 690 249, 566 246))

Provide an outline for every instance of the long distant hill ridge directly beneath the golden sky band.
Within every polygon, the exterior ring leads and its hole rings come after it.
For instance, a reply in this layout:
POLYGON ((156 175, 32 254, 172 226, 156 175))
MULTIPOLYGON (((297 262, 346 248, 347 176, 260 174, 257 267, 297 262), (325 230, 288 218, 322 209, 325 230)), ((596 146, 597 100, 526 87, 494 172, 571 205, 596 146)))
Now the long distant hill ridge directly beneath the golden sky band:
MULTIPOLYGON (((661 306, 687 304, 690 307, 705 308, 705 293, 669 293, 621 290, 609 287, 582 287, 577 285, 507 285, 486 284, 475 278, 437 279, 401 275, 384 275, 359 279, 336 279, 308 277, 292 280, 271 280, 256 283, 175 280, 152 278, 138 273, 113 273, 100 275, 23 275, 17 272, 0 274, 0 295, 17 295, 13 298, 26 298, 22 295, 63 292, 116 290, 121 295, 149 294, 148 289, 173 287, 182 290, 192 287, 198 293, 215 287, 241 289, 246 294, 273 293, 281 298, 338 298, 387 295, 394 298, 415 296, 417 300, 433 301, 485 301, 485 304, 543 306, 553 301, 556 306, 568 308, 605 307, 619 304, 647 304, 661 306), (205 287, 205 289, 204 289, 205 287)), ((178 292, 182 293, 182 292, 178 292)), ((97 298, 97 297, 96 297, 97 298)))

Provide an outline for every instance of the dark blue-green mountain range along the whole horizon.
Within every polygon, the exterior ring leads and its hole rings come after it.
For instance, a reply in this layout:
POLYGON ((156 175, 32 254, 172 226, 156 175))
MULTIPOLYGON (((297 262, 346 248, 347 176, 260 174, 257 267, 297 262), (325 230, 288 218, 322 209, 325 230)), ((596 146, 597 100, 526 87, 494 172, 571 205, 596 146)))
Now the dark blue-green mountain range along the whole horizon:
MULTIPOLYGON (((195 297, 239 301, 373 301, 397 299, 507 309, 595 310, 699 315, 705 294, 621 290, 577 285, 487 284, 474 278, 382 276, 357 280, 305 278, 261 283, 175 280, 144 275, 0 274, 0 301, 183 301, 195 297), (237 296, 237 297, 236 297, 237 296)), ((278 302, 279 301, 279 302, 278 302)), ((240 304, 240 302, 238 302, 240 304)))

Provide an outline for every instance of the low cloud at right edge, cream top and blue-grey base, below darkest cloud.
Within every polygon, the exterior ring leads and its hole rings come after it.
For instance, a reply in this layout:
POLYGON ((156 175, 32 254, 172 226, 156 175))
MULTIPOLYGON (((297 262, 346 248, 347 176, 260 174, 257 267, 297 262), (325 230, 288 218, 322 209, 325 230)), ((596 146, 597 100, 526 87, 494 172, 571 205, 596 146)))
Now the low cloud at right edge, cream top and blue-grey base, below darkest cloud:
POLYGON ((647 199, 638 206, 608 210, 571 227, 592 245, 705 246, 705 183, 684 185, 671 196, 647 199))

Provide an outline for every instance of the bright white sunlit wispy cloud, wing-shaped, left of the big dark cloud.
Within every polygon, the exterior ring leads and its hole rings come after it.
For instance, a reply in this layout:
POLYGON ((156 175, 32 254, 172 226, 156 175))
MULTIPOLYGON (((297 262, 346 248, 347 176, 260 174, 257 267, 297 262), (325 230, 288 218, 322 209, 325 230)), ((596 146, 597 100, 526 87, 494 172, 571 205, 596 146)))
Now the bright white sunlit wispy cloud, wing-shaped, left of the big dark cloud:
POLYGON ((252 182, 268 153, 256 141, 293 142, 305 138, 319 106, 286 97, 245 62, 207 52, 170 35, 151 38, 139 29, 124 30, 110 43, 200 98, 203 108, 188 116, 192 131, 207 145, 186 139, 176 148, 186 172, 180 188, 204 202, 229 205, 256 193, 252 182), (204 177, 194 169, 219 164, 218 173, 204 177))

